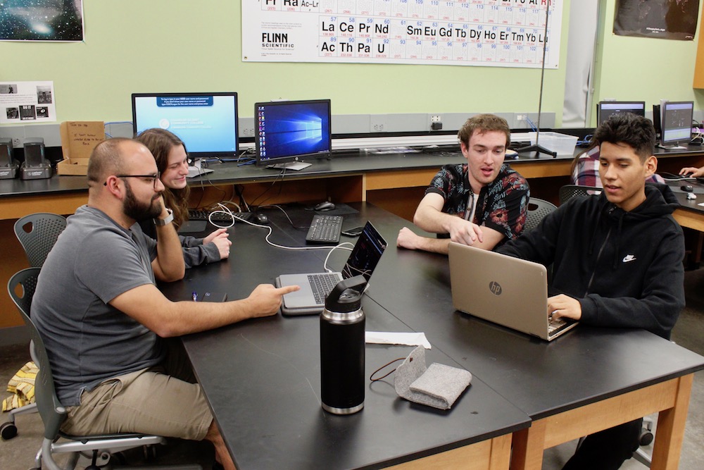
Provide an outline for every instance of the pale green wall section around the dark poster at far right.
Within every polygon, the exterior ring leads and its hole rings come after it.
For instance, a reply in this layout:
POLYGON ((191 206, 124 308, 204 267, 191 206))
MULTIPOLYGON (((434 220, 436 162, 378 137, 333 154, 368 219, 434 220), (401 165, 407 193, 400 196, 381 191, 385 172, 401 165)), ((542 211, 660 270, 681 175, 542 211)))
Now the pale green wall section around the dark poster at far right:
POLYGON ((695 109, 704 109, 704 90, 692 88, 701 25, 694 41, 617 36, 616 1, 601 0, 594 102, 638 99, 646 101, 647 109, 668 99, 694 101, 695 109))

